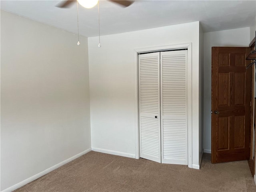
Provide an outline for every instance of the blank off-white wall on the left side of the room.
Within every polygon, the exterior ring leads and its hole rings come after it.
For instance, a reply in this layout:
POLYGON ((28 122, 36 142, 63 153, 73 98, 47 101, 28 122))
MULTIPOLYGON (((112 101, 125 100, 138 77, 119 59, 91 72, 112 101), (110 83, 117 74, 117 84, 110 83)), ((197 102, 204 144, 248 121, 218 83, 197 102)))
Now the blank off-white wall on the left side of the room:
POLYGON ((1 11, 1 191, 90 149, 87 38, 1 11))

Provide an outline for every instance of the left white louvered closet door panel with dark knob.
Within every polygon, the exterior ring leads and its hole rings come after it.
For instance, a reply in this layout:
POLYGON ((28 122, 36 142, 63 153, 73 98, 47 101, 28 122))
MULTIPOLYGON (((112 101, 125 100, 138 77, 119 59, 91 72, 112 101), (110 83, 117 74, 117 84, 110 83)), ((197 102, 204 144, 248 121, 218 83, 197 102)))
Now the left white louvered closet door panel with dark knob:
POLYGON ((161 162, 160 52, 140 54, 140 157, 161 162))

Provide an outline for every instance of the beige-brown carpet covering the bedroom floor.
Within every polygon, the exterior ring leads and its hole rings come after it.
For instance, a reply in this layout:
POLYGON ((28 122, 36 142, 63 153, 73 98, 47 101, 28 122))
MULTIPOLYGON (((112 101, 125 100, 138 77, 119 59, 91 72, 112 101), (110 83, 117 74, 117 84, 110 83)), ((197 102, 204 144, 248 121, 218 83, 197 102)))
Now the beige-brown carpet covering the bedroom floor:
POLYGON ((98 152, 80 158, 15 192, 256 192, 247 161, 211 164, 201 169, 132 159, 98 152))

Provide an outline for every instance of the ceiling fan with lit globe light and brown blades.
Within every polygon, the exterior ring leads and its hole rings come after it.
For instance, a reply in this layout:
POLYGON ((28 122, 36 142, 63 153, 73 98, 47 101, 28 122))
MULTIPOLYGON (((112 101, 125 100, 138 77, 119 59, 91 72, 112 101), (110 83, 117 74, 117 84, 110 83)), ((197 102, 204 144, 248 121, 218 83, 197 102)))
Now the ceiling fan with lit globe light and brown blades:
MULTIPOLYGON (((108 0, 108 1, 123 7, 128 7, 134 2, 131 0, 108 0)), ((76 0, 62 0, 60 3, 56 5, 56 7, 69 8, 74 3, 76 3, 76 0)), ((92 8, 98 3, 98 0, 78 0, 78 3, 85 8, 92 8)))

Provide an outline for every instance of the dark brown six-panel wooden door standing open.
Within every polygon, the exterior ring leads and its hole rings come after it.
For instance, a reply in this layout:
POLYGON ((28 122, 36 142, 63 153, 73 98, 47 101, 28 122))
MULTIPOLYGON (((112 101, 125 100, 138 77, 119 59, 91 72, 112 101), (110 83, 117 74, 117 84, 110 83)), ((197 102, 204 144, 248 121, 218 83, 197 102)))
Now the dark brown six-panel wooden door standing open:
POLYGON ((250 48, 212 47, 212 163, 250 156, 250 48))

